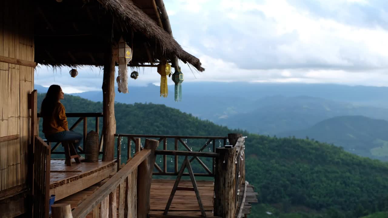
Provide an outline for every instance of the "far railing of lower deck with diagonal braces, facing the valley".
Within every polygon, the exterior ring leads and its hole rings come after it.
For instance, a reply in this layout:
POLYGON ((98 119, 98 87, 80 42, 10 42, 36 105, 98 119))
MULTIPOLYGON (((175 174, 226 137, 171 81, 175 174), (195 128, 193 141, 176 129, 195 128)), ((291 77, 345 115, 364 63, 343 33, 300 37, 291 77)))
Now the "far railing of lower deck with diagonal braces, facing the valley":
MULTIPOLYGON (((224 147, 227 144, 228 138, 227 137, 214 137, 214 136, 174 136, 174 135, 131 135, 131 134, 115 134, 115 137, 118 137, 118 156, 120 154, 121 156, 121 148, 123 147, 123 138, 126 138, 126 145, 127 145, 127 159, 130 159, 131 156, 131 146, 132 142, 140 143, 144 140, 144 138, 154 138, 158 140, 159 142, 163 143, 163 147, 159 147, 156 154, 160 155, 163 158, 160 159, 160 161, 157 161, 155 166, 155 172, 153 175, 165 175, 165 176, 177 176, 179 173, 178 169, 178 157, 179 156, 185 156, 184 154, 189 153, 182 153, 183 151, 191 152, 194 154, 192 147, 201 147, 197 153, 214 153, 216 147, 224 147), (170 146, 171 149, 168 149, 167 142, 168 139, 174 140, 174 147, 170 146), (198 141, 205 140, 206 142, 202 144, 203 142, 200 142, 201 144, 198 144, 198 141), (120 144, 120 145, 119 145, 120 144), (217 144, 217 145, 216 145, 217 144), (180 150, 180 148, 183 148, 184 150, 180 150), (208 150, 209 149, 209 150, 208 150), (168 152, 162 152, 162 151, 168 151, 168 152), (175 152, 173 152, 175 151, 175 152), (167 156, 171 155, 174 157, 173 162, 173 171, 168 171, 168 161, 167 156), (159 164, 161 165, 159 165, 159 164)), ((125 143, 125 141, 124 141, 125 143)), ((202 156, 199 155, 192 155, 192 157, 189 159, 190 163, 192 161, 197 160, 198 163, 202 166, 202 168, 206 171, 206 173, 194 173, 195 176, 214 176, 214 168, 215 168, 215 159, 213 157, 212 159, 212 166, 207 166, 199 157, 207 157, 206 155, 202 156)), ((119 157, 118 157, 119 158, 119 157)), ((188 176, 188 173, 184 173, 183 175, 188 176)))

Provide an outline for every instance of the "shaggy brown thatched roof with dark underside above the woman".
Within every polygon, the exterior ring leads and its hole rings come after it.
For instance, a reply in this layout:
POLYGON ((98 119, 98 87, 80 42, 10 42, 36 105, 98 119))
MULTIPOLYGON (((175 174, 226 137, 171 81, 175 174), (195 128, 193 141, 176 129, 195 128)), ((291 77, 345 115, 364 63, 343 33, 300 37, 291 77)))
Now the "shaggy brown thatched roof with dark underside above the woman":
POLYGON ((133 48, 134 66, 176 56, 204 70, 199 59, 158 24, 159 11, 147 6, 153 0, 36 2, 35 61, 40 64, 102 66, 109 41, 124 36, 133 48))

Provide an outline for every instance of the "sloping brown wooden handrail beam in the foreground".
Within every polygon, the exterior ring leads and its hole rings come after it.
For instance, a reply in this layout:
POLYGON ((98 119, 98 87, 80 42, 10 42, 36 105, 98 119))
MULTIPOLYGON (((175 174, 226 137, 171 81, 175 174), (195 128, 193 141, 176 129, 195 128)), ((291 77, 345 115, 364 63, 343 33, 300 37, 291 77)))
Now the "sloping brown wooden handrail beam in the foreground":
POLYGON ((113 192, 116 187, 125 180, 125 178, 132 173, 134 169, 139 166, 144 159, 146 159, 151 154, 151 150, 143 149, 143 151, 139 152, 138 155, 133 157, 133 159, 125 164, 120 171, 118 171, 115 175, 112 176, 104 185, 100 187, 96 192, 94 192, 90 197, 88 197, 84 202, 80 204, 73 211, 73 216, 75 217, 84 217, 89 211, 92 210, 97 204, 99 204, 105 197, 109 195, 109 193, 113 192))

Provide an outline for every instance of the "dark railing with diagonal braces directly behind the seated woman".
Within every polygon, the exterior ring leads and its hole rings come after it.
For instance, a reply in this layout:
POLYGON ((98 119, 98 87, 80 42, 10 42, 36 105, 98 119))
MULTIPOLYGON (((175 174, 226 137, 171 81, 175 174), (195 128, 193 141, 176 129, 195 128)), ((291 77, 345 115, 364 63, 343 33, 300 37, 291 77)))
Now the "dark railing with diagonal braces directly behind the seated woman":
MULTIPOLYGON (((100 117, 103 117, 104 115, 102 113, 66 113, 66 117, 67 118, 78 118, 77 121, 75 121, 75 123, 69 128, 69 130, 74 130, 81 122, 83 123, 83 142, 86 141, 86 135, 87 135, 87 131, 88 131, 88 126, 87 126, 87 118, 95 118, 95 131, 97 133, 99 133, 99 118, 100 117)), ((39 119, 41 118, 42 116, 38 113, 38 132, 39 132, 39 119)), ((102 139, 102 137, 100 136, 100 139, 102 139)), ((65 154, 65 152, 61 152, 61 151, 55 151, 55 149, 57 149, 58 145, 60 145, 61 143, 58 142, 56 143, 52 148, 51 148, 51 154, 65 154)), ((101 140, 100 140, 100 144, 101 144, 101 140)), ((101 147, 101 146, 100 146, 101 147)), ((78 150, 79 150, 79 154, 85 154, 85 152, 83 151, 83 148, 81 146, 78 147, 78 150)), ((102 152, 100 151, 100 154, 102 154, 102 152)))

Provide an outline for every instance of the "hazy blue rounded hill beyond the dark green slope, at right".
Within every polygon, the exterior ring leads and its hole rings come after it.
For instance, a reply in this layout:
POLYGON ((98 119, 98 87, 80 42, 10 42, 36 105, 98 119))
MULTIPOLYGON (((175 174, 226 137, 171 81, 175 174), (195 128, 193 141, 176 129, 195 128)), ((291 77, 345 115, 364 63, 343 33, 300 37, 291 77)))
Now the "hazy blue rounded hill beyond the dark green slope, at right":
POLYGON ((281 137, 314 138, 345 151, 388 161, 388 121, 364 116, 339 116, 304 129, 278 134, 281 137))

